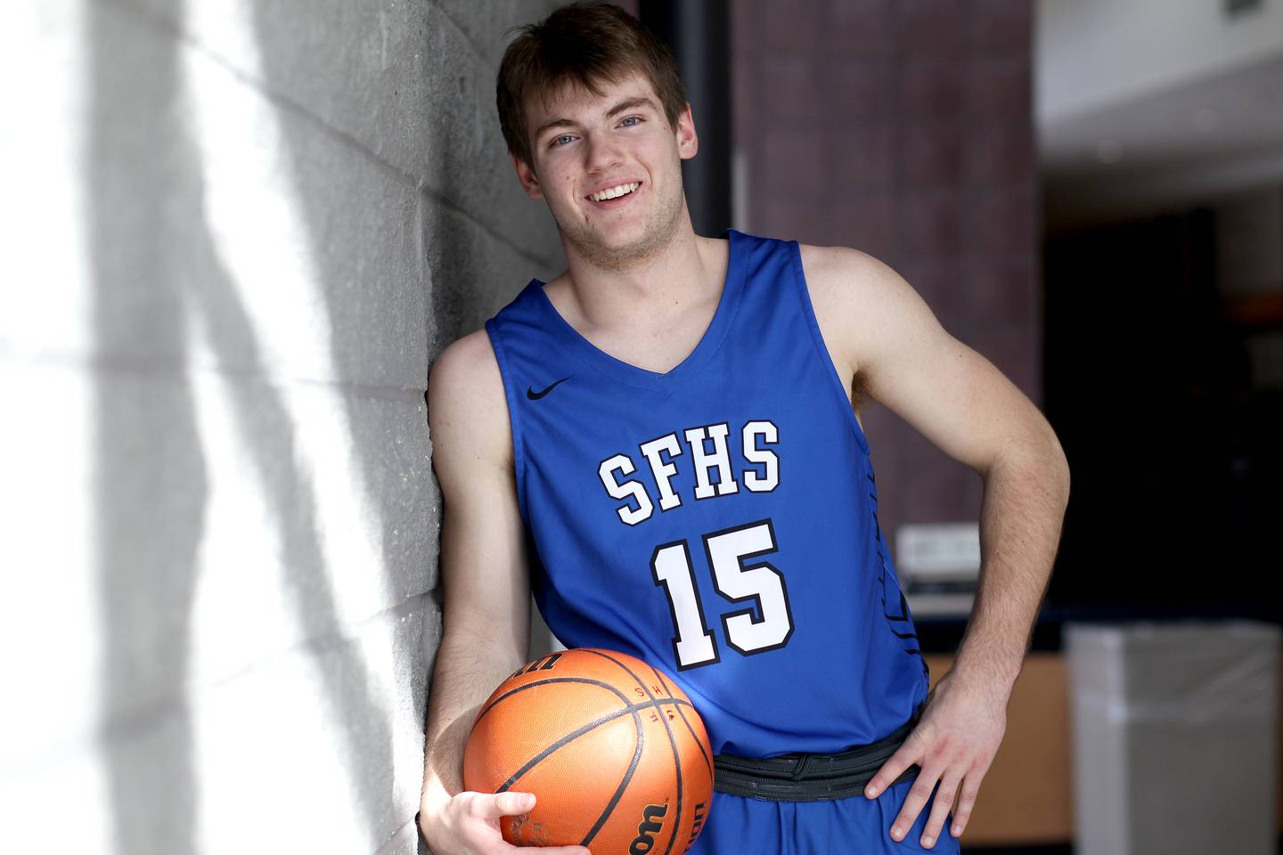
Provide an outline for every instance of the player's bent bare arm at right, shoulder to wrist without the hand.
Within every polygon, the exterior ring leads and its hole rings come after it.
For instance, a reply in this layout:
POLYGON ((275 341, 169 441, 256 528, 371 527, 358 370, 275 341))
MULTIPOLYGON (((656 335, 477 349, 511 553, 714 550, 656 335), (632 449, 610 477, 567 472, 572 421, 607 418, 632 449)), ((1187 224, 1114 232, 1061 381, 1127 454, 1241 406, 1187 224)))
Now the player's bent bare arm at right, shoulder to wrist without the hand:
POLYGON ((813 296, 833 319, 825 333, 858 387, 984 481, 980 591, 955 673, 1005 700, 1060 542, 1064 450, 1033 401, 946 332, 896 270, 845 247, 807 247, 807 258, 813 296))

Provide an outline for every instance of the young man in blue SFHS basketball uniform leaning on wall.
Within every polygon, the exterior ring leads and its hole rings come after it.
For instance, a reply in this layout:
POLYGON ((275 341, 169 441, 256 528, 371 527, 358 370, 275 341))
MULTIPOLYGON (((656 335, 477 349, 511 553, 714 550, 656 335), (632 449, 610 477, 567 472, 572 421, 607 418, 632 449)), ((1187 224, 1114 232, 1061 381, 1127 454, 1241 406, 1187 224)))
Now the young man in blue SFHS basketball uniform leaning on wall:
POLYGON ((695 704, 717 791, 692 852, 956 852, 1060 537, 1052 429, 876 259, 695 235, 690 106, 671 54, 622 10, 525 27, 498 104, 567 269, 432 367, 446 599, 429 845, 511 851, 498 820, 530 808, 463 791, 461 758, 527 659, 534 590, 567 646, 650 661, 695 704), (930 692, 854 385, 985 482, 980 594, 930 692))

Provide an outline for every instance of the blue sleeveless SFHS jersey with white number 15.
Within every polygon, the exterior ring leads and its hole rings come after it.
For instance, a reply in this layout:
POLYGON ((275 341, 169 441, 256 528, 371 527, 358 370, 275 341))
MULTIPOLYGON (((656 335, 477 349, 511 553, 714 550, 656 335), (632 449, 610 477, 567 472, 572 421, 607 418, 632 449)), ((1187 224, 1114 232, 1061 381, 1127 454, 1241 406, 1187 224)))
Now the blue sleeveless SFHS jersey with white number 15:
POLYGON ((531 592, 567 647, 671 674, 715 754, 838 752, 908 720, 926 663, 798 244, 722 236, 713 319, 666 373, 599 350, 539 279, 486 320, 531 592))

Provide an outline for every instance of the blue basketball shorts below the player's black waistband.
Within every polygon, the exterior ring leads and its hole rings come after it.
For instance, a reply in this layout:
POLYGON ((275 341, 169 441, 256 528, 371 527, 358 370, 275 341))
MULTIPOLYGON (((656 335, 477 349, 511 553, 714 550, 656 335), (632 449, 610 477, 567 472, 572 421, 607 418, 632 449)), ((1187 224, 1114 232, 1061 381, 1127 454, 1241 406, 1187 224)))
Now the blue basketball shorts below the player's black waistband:
POLYGON ((958 838, 949 833, 952 810, 944 818, 939 840, 930 849, 921 843, 939 791, 938 781, 908 834, 899 841, 890 836, 912 786, 913 778, 902 781, 872 800, 856 795, 819 801, 774 801, 715 791, 708 818, 688 854, 957 855, 961 851, 958 838))

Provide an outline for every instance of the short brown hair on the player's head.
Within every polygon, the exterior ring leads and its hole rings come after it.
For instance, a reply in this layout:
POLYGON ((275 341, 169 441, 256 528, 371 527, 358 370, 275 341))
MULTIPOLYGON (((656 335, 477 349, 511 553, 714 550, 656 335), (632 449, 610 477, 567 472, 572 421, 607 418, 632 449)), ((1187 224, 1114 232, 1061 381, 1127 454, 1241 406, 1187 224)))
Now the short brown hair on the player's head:
POLYGON ((531 168, 526 138, 527 97, 544 106, 566 81, 600 97, 600 83, 617 83, 633 72, 650 79, 668 126, 686 106, 677 60, 662 38, 613 3, 571 3, 534 24, 509 27, 520 35, 503 51, 495 77, 495 105, 508 151, 531 168))

